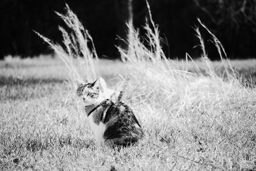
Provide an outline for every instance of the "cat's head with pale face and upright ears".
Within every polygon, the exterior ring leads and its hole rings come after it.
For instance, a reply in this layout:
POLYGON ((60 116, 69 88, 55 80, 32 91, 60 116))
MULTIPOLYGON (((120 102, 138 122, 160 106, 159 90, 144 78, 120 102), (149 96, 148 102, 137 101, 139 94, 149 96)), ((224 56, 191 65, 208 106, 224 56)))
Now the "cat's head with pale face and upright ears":
POLYGON ((102 86, 100 85, 99 79, 92 83, 78 83, 77 84, 77 95, 81 97, 85 106, 95 105, 100 103, 102 100, 102 86))

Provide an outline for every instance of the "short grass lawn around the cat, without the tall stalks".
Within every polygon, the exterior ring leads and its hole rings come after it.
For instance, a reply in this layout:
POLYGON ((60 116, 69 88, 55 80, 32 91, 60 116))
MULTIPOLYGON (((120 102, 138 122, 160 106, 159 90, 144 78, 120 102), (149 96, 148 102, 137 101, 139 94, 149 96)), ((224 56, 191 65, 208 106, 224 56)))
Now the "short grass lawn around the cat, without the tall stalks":
MULTIPOLYGON (((255 60, 231 63, 255 75, 255 60)), ((104 60, 97 66, 110 85, 118 74, 129 78, 124 101, 145 131, 138 145, 118 150, 95 144, 84 113, 70 98, 67 68, 60 59, 1 61, 0 170, 256 169, 255 89, 248 88, 250 97, 219 92, 216 101, 215 90, 204 91, 212 84, 205 77, 193 82, 195 98, 178 100, 186 94, 168 97, 165 85, 147 74, 134 77, 128 66, 104 60)))

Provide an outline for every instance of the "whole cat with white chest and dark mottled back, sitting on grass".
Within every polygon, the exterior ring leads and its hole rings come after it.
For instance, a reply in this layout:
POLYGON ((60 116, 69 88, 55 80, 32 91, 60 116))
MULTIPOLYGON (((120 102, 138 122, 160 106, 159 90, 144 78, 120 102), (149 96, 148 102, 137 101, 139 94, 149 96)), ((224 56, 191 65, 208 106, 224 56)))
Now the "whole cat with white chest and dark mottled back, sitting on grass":
POLYGON ((143 130, 134 112, 121 101, 109 100, 112 94, 106 97, 100 79, 77 87, 97 144, 126 146, 138 142, 143 137, 143 130))

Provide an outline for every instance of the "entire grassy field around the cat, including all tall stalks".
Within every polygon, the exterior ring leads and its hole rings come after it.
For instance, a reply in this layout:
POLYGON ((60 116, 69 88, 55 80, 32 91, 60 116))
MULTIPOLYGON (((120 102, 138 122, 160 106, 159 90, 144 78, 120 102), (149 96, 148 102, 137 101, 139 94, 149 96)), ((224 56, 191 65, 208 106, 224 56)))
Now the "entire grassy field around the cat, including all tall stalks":
POLYGON ((58 15, 72 34, 60 27, 61 45, 38 35, 60 58, 0 62, 0 170, 256 170, 255 59, 228 61, 200 20, 221 61, 209 61, 198 28, 200 59, 167 59, 150 15, 143 40, 127 25, 129 48, 118 48, 126 63, 98 61, 76 15, 68 6, 58 15), (74 80, 99 76, 114 88, 127 82, 123 101, 145 132, 138 144, 93 140, 74 80))

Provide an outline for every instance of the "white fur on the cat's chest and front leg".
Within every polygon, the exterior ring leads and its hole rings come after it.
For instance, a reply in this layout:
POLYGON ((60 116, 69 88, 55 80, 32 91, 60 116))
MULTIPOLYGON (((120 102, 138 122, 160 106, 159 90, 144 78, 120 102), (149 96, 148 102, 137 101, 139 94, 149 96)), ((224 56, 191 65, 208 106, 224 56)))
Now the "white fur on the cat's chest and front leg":
POLYGON ((100 122, 99 124, 96 124, 93 122, 93 114, 89 115, 87 117, 87 121, 90 125, 90 128, 93 132, 93 137, 95 138, 96 142, 98 144, 102 144, 104 142, 104 131, 106 130, 106 125, 100 122))

